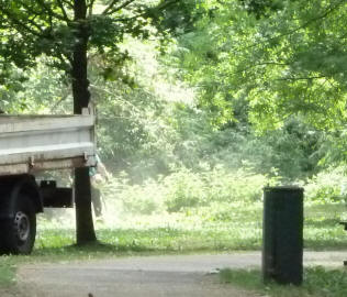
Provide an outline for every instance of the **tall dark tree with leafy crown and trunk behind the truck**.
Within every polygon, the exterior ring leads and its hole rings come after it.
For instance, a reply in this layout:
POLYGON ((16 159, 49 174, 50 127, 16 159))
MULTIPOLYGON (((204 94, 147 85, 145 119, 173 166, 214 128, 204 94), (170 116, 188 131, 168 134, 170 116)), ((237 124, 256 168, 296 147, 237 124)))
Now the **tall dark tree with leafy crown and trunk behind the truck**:
MULTIPOLYGON (((126 56, 119 43, 124 35, 148 37, 176 25, 171 10, 187 12, 179 0, 0 0, 0 66, 1 74, 14 64, 32 67, 38 56, 48 57, 53 67, 64 69, 71 78, 74 112, 88 107, 88 54, 102 55, 116 62, 126 56), (182 9, 182 10, 181 10, 182 9), (165 20, 166 22, 163 22, 165 20)), ((183 21, 190 21, 189 14, 183 21)), ((112 70, 109 66, 105 70, 112 70)), ((88 168, 75 170, 77 243, 96 241, 91 216, 91 194, 88 168)))

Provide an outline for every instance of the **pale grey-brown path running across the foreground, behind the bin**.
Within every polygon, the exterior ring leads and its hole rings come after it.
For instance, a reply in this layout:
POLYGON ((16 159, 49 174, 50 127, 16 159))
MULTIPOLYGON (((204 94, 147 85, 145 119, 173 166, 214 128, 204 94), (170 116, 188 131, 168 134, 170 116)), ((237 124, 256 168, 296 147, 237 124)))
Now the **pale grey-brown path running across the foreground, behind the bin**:
MULTIPOLYGON (((307 252, 304 264, 340 267, 346 258, 347 252, 307 252)), ((220 284, 213 272, 259 268, 260 262, 260 253, 254 252, 25 265, 19 271, 19 289, 25 297, 248 297, 256 294, 220 284)))

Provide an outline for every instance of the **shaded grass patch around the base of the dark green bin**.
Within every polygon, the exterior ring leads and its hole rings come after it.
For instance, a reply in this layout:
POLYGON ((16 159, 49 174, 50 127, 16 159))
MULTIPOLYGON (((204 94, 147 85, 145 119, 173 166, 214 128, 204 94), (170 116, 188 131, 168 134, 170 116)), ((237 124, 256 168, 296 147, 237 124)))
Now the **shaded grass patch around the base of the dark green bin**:
POLYGON ((302 286, 264 284, 261 273, 255 270, 222 270, 220 279, 239 288, 271 297, 346 297, 347 271, 322 266, 304 270, 302 286))

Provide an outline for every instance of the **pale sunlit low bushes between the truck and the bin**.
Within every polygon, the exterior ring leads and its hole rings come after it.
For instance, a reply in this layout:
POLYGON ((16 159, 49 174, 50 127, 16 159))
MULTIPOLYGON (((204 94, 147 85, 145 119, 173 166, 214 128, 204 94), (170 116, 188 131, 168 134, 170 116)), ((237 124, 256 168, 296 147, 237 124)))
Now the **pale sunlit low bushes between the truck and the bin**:
POLYGON ((181 168, 158 179, 132 185, 126 175, 103 187, 108 200, 122 201, 123 210, 132 213, 183 212, 213 204, 249 204, 260 200, 266 177, 245 169, 231 172, 215 167, 201 172, 181 168))

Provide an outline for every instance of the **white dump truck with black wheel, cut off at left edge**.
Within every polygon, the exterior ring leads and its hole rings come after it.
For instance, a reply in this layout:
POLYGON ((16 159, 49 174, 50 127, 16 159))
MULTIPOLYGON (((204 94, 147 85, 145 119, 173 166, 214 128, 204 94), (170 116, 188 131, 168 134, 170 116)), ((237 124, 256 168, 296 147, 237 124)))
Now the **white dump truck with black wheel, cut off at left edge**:
POLYGON ((0 253, 29 254, 36 213, 71 207, 71 188, 36 182, 42 170, 96 165, 94 116, 0 116, 0 253))

